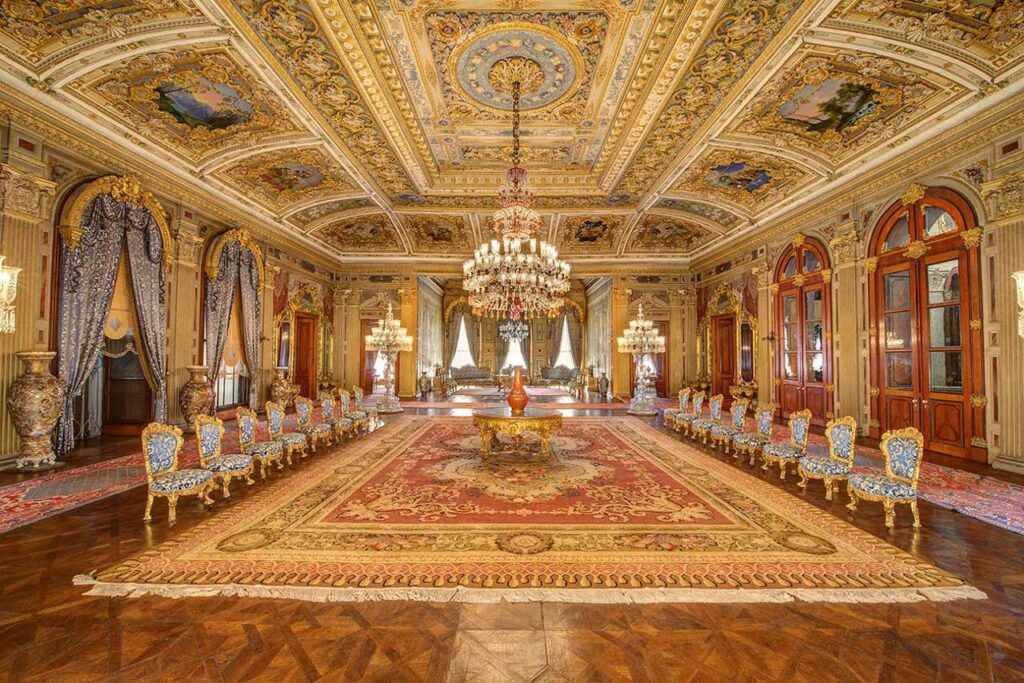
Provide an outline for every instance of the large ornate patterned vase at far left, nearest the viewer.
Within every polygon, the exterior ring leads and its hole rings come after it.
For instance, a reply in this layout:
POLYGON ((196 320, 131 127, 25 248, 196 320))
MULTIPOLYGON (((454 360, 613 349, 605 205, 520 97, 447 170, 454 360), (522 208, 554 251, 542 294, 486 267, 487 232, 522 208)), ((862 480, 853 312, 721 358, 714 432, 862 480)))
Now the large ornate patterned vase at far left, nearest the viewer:
POLYGON ((65 400, 63 382, 50 374, 53 351, 16 354, 25 372, 7 390, 7 410, 22 438, 15 467, 44 468, 56 462, 51 437, 65 400))

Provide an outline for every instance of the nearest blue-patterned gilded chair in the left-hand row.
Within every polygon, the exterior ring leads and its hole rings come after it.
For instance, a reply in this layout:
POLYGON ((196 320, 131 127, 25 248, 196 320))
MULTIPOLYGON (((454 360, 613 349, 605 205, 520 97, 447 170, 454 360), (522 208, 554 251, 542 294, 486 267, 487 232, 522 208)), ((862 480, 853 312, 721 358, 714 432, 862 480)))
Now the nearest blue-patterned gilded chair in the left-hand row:
POLYGON ((174 526, 177 521, 179 496, 198 496, 206 505, 212 505, 210 489, 213 487, 213 472, 201 469, 178 469, 178 454, 181 452, 181 430, 173 425, 153 422, 142 430, 142 455, 145 457, 145 476, 150 490, 145 499, 145 515, 148 522, 153 518, 153 499, 167 499, 167 523, 174 526))

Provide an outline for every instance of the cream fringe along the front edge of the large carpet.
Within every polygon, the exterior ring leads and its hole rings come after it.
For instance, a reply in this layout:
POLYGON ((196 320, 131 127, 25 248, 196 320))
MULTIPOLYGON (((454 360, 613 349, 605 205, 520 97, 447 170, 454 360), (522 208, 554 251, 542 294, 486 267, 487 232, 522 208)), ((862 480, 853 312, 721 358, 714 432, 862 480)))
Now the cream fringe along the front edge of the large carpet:
POLYGON ((304 600, 307 602, 563 602, 579 604, 650 604, 650 603, 897 603, 985 600, 973 586, 942 588, 882 589, 479 589, 479 588, 322 588, 314 586, 185 586, 166 584, 110 584, 89 574, 75 577, 76 586, 89 586, 85 593, 101 597, 138 598, 154 595, 164 598, 239 597, 304 600))

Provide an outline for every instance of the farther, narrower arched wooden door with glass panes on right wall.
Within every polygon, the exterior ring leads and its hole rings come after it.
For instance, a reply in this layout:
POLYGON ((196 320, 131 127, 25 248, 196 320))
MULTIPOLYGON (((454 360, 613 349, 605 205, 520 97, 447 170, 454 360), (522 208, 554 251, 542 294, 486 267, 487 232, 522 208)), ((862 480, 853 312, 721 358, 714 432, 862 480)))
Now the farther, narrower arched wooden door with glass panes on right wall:
POLYGON ((809 410, 823 425, 833 411, 831 281, 828 253, 797 236, 775 266, 775 381, 782 417, 809 410))

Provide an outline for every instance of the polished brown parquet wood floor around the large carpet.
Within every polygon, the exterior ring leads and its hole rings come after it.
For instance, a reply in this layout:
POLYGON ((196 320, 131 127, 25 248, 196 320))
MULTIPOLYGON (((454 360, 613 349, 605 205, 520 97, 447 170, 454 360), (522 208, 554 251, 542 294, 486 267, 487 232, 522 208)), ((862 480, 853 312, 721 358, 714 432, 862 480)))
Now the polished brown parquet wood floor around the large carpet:
MULTIPOLYGON (((795 481, 769 480, 803 495, 795 481)), ((927 503, 918 535, 902 512, 896 531, 887 533, 881 506, 861 505, 853 523, 959 574, 988 600, 321 604, 95 598, 71 583, 259 490, 234 486, 230 502, 218 498, 208 512, 183 503, 173 530, 160 506, 154 524, 142 523, 145 495, 137 488, 0 536, 0 678, 1024 680, 1024 538, 927 503)), ((846 516, 845 494, 828 504, 812 483, 806 498, 846 516)))

